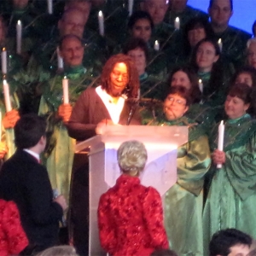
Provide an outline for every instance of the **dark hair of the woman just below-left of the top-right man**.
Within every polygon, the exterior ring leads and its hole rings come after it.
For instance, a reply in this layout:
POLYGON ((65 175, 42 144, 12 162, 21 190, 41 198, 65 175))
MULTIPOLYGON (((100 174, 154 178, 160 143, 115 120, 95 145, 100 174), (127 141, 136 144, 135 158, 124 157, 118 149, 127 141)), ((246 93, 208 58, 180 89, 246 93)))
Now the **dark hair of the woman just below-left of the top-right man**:
POLYGON ((212 30, 212 26, 203 17, 195 17, 189 22, 184 27, 184 32, 183 32, 183 37, 184 37, 184 49, 187 55, 189 55, 191 46, 189 44, 189 31, 197 29, 197 28, 203 28, 205 33, 206 33, 206 38, 213 38, 214 32, 212 30))

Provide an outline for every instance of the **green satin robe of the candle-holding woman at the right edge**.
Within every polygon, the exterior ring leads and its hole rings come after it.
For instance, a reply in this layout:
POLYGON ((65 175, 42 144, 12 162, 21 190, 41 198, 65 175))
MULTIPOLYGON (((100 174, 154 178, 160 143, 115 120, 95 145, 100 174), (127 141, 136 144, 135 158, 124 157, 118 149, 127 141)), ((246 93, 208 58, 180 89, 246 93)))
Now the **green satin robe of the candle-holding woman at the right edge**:
MULTIPOLYGON (((204 255, 218 230, 236 228, 256 237, 256 122, 248 114, 225 124, 222 168, 212 165, 203 212, 204 255), (210 184, 210 185, 209 185, 210 184)), ((212 132, 211 149, 217 148, 218 125, 212 132)))

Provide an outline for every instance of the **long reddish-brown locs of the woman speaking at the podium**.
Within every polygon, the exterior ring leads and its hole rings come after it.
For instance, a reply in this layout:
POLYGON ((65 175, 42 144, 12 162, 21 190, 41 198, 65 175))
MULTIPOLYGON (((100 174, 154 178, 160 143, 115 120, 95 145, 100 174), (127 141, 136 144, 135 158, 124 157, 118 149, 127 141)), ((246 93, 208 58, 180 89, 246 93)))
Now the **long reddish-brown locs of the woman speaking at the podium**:
POLYGON ((131 57, 124 54, 118 54, 111 56, 102 69, 102 89, 110 92, 111 81, 110 74, 113 71, 113 67, 117 63, 125 63, 128 72, 128 84, 125 87, 123 93, 128 96, 128 98, 137 98, 139 90, 139 75, 137 73, 137 68, 134 63, 131 61, 131 57))

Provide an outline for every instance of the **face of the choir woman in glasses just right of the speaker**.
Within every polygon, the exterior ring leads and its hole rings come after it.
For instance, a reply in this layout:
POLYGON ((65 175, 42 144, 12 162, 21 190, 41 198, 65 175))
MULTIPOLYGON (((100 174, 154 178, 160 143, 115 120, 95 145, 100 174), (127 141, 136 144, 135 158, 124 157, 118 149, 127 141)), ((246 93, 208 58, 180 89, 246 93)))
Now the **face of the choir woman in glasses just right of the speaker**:
POLYGON ((177 94, 169 94, 164 102, 164 113, 167 120, 179 119, 189 109, 187 101, 177 94))

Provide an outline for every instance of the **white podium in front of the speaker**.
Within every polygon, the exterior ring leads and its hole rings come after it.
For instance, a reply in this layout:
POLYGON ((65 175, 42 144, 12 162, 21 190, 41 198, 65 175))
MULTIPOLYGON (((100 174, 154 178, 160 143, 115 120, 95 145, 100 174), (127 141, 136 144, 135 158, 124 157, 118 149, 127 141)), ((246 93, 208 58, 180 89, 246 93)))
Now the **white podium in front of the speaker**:
POLYGON ((89 195, 89 254, 106 255, 98 235, 97 207, 100 196, 116 182, 120 175, 117 149, 121 143, 137 140, 147 148, 148 161, 141 178, 145 186, 157 189, 164 195, 177 181, 177 147, 187 143, 186 126, 107 125, 102 135, 78 143, 76 151, 90 148, 89 195))

